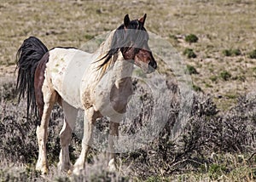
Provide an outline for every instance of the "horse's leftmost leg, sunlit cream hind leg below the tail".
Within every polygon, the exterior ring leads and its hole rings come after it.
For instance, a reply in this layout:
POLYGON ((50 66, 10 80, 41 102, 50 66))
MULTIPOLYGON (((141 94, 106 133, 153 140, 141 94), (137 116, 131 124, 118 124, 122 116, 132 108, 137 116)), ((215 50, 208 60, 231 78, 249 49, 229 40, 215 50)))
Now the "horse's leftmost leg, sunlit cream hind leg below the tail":
POLYGON ((42 91, 44 95, 44 110, 40 126, 38 126, 37 128, 39 153, 36 169, 41 171, 42 173, 48 173, 48 163, 46 154, 46 142, 48 138, 47 129, 49 125, 50 112, 53 108, 53 105, 55 105, 57 94, 55 90, 49 88, 49 86, 46 84, 43 85, 42 91))

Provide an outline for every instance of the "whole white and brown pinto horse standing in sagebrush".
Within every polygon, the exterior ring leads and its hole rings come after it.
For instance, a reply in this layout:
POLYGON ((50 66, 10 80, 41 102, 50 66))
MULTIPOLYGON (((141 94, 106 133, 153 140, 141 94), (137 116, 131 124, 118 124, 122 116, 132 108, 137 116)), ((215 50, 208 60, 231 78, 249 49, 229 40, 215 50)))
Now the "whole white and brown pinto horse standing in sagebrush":
POLYGON ((16 55, 19 101, 26 99, 27 117, 38 115, 36 134, 38 161, 36 169, 48 173, 46 142, 50 113, 55 104, 64 111, 60 132, 61 152, 58 168, 79 174, 92 145, 93 127, 97 118, 108 116, 108 168, 117 169, 114 139, 119 136, 119 122, 132 94, 131 73, 134 65, 145 73, 157 68, 148 47, 148 32, 144 27, 147 14, 130 20, 126 14, 123 24, 112 31, 106 41, 90 54, 78 48, 46 48, 37 37, 28 37, 16 55), (71 142, 78 110, 84 110, 82 150, 72 164, 68 145, 71 142), (29 112, 32 113, 29 114, 29 112))

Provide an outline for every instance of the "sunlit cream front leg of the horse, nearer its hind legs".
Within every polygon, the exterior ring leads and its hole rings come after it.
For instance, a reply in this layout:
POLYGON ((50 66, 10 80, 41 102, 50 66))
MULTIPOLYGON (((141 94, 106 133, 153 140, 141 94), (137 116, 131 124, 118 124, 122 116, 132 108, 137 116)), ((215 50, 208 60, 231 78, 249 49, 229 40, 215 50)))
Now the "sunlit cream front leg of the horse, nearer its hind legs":
POLYGON ((84 111, 84 137, 82 140, 82 151, 79 159, 75 162, 73 166, 74 174, 81 173, 81 170, 85 168, 86 157, 93 142, 93 126, 96 122, 96 118, 98 117, 100 117, 100 115, 98 112, 94 111, 93 107, 90 107, 89 110, 84 111))

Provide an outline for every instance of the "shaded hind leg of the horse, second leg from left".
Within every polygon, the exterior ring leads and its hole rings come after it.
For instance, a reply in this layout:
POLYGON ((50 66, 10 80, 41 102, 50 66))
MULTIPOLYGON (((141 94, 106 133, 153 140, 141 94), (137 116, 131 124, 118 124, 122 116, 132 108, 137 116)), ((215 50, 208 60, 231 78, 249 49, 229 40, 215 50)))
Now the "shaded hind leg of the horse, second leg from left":
POLYGON ((61 129, 60 139, 61 139, 61 153, 60 153, 60 162, 58 163, 58 168, 61 171, 68 171, 72 168, 72 163, 69 158, 68 145, 70 144, 72 131, 75 125, 76 117, 78 110, 71 105, 68 105, 66 102, 60 103, 62 105, 65 118, 64 125, 61 129))

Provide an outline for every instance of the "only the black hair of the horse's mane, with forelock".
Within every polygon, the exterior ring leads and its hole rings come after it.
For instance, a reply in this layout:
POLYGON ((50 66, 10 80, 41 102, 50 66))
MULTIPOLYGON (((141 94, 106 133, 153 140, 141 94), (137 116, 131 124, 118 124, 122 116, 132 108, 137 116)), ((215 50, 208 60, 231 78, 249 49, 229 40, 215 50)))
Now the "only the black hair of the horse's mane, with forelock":
POLYGON ((148 32, 146 31, 143 24, 139 20, 131 20, 129 26, 126 28, 126 31, 127 30, 128 33, 125 33, 124 24, 122 24, 116 29, 116 31, 113 34, 111 49, 105 56, 102 57, 102 59, 100 59, 105 60, 101 65, 99 65, 99 68, 102 68, 103 65, 106 65, 108 61, 112 58, 112 56, 118 53, 119 49, 123 51, 125 48, 131 48, 132 46, 136 46, 136 48, 141 48, 143 39, 148 39, 148 32), (137 35, 134 34, 134 30, 137 30, 137 35), (132 39, 129 39, 129 36, 132 37, 132 39))

